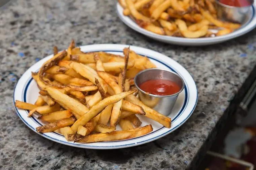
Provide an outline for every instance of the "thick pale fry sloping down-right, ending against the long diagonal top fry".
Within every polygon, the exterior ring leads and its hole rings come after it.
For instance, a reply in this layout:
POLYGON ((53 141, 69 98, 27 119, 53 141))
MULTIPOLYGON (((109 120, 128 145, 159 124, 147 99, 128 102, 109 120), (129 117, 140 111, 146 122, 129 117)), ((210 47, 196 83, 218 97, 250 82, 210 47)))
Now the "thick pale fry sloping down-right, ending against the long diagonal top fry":
POLYGON ((89 109, 83 105, 82 103, 76 101, 72 97, 69 97, 68 95, 62 93, 61 91, 54 89, 52 87, 47 87, 45 90, 48 92, 48 94, 56 100, 62 107, 64 107, 67 110, 71 110, 72 113, 79 118, 83 114, 85 114, 89 109))

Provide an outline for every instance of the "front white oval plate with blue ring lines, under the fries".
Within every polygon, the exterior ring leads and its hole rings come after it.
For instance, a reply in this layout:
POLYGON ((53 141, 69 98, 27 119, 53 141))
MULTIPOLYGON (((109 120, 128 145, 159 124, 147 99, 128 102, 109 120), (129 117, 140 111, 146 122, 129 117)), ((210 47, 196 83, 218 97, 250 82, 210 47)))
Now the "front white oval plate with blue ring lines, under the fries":
MULTIPOLYGON (((122 55, 123 54, 122 51, 125 47, 128 47, 128 45, 99 44, 99 45, 82 46, 81 51, 83 52, 105 51, 112 54, 122 55)), ((167 56, 164 56, 155 51, 144 49, 141 47, 131 46, 130 48, 131 50, 134 50, 136 53, 140 55, 147 56, 158 68, 166 68, 176 72, 183 78, 185 82, 185 88, 180 93, 177 99, 177 102, 171 114, 169 115, 169 117, 172 118, 172 125, 170 129, 163 127, 158 122, 150 120, 145 116, 144 117, 140 116, 139 118, 143 122, 142 126, 146 124, 152 124, 153 132, 141 137, 133 138, 133 139, 127 139, 127 140, 121 140, 121 141, 110 141, 110 142, 98 142, 98 143, 73 143, 73 142, 67 142, 63 135, 55 132, 44 133, 44 134, 38 133, 38 134, 52 141, 55 141, 64 145, 74 146, 74 147, 89 148, 89 149, 117 149, 117 148, 137 146, 137 145, 154 141, 158 138, 161 138, 173 132, 178 127, 180 127, 190 117, 197 103, 198 93, 197 93, 197 88, 193 78, 184 67, 182 67, 179 63, 177 63, 176 61, 172 60, 167 56)), ((38 72, 42 64, 46 60, 50 59, 51 57, 52 55, 40 60, 39 62, 31 66, 21 76, 20 80, 17 82, 14 89, 13 102, 15 100, 20 100, 28 103, 35 103, 38 97, 39 89, 37 87, 36 82, 31 77, 31 72, 38 72)), ((45 122, 37 119, 36 117, 28 117, 27 110, 16 108, 16 111, 19 117, 22 119, 22 121, 34 132, 36 132, 36 127, 45 124, 45 122)), ((120 129, 120 127, 118 127, 118 129, 120 129)))

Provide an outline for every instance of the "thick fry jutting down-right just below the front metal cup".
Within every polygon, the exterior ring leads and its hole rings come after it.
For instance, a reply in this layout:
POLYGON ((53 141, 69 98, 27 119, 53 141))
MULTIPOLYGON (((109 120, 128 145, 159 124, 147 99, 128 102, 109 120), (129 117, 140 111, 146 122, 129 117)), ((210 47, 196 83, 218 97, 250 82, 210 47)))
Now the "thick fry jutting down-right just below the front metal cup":
POLYGON ((158 113, 157 111, 153 110, 152 108, 146 106, 134 95, 127 96, 126 100, 130 101, 131 103, 141 106, 144 109, 144 111, 146 112, 146 114, 145 114, 146 117, 159 122, 160 124, 164 125, 167 128, 171 127, 171 118, 170 117, 164 116, 161 113, 158 113))

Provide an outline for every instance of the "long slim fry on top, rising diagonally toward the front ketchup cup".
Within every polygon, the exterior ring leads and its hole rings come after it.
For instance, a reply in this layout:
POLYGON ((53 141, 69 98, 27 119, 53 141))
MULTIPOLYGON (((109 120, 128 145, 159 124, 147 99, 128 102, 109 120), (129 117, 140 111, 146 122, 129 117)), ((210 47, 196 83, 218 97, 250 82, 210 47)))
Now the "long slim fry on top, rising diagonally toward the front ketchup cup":
POLYGON ((113 104, 126 97, 129 94, 135 93, 137 90, 130 90, 122 92, 101 100, 99 103, 94 105, 86 114, 82 115, 72 126, 71 129, 74 133, 77 132, 79 125, 85 125, 90 119, 95 117, 100 111, 102 111, 107 105, 113 104))

